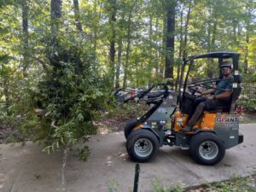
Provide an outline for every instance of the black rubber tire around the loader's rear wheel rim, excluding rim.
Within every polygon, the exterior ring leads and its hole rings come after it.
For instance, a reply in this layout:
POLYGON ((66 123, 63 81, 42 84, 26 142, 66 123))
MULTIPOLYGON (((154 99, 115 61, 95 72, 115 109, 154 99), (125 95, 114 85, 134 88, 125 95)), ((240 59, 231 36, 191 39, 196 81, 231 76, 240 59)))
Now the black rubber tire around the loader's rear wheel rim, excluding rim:
POLYGON ((191 138, 189 143, 189 152, 197 163, 212 166, 224 158, 224 142, 213 132, 202 131, 191 138), (218 148, 218 154, 211 160, 207 160, 200 154, 200 146, 205 142, 215 143, 218 148))

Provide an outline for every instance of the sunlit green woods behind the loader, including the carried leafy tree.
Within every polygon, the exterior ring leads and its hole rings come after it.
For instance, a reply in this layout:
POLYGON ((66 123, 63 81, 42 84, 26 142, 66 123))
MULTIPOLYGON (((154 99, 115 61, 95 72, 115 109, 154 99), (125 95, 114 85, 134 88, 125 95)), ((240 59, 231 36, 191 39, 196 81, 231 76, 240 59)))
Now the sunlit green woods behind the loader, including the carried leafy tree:
MULTIPOLYGON (((177 90, 188 55, 236 51, 245 82, 256 80, 253 0, 7 0, 0 8, 0 116, 46 150, 95 132, 114 89, 171 79, 177 90)), ((201 76, 212 78, 211 64, 201 63, 201 76)))

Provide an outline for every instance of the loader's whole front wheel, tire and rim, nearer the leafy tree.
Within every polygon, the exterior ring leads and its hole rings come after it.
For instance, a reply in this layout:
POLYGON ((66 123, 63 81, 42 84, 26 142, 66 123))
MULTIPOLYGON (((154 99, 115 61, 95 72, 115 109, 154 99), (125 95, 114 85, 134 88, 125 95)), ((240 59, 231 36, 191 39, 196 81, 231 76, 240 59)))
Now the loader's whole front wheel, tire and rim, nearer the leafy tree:
POLYGON ((151 131, 135 130, 127 138, 126 149, 131 160, 146 162, 154 159, 159 150, 159 141, 151 131))

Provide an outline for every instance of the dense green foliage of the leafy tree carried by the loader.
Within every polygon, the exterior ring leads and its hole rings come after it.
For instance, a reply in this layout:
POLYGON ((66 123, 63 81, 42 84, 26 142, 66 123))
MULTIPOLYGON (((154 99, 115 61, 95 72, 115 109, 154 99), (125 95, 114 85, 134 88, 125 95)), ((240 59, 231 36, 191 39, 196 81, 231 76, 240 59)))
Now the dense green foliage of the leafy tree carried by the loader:
MULTIPOLYGON (((37 96, 48 112, 39 119, 40 129, 48 131, 44 135, 44 151, 48 153, 62 146, 72 147, 84 135, 95 133, 95 108, 104 98, 96 83, 99 77, 90 73, 91 61, 86 52, 80 55, 81 50, 67 39, 58 43, 55 52, 58 54, 49 58, 49 73, 38 83, 37 96)), ((78 156, 85 160, 85 154, 88 152, 84 148, 78 156)))

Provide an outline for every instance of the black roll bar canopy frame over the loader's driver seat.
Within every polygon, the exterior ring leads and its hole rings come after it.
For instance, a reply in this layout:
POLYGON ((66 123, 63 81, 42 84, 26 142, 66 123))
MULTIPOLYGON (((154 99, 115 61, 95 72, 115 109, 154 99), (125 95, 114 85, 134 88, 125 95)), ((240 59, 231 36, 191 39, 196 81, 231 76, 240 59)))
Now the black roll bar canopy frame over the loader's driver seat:
MULTIPOLYGON (((210 53, 202 54, 202 55, 192 55, 192 56, 189 56, 187 59, 183 59, 181 75, 180 75, 180 79, 179 79, 179 89, 178 89, 178 101, 179 101, 180 106, 183 104, 183 97, 184 97, 185 90, 187 87, 190 69, 196 59, 217 58, 218 59, 218 67, 220 67, 220 65, 222 64, 224 59, 232 59, 234 82, 233 82, 233 93, 232 93, 232 102, 231 102, 231 107, 230 107, 230 113, 233 112, 235 109, 237 96, 239 96, 240 91, 241 91, 241 87, 238 86, 238 84, 241 83, 241 75, 238 72, 239 56, 240 56, 240 54, 238 54, 236 52, 217 51, 217 52, 210 52, 210 53), (189 63, 189 69, 188 69, 185 79, 183 79, 184 69, 188 63, 189 63), (183 93, 182 93, 182 90, 183 90, 183 93)), ((221 78, 220 73, 219 73, 219 77, 221 78)))

